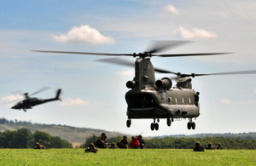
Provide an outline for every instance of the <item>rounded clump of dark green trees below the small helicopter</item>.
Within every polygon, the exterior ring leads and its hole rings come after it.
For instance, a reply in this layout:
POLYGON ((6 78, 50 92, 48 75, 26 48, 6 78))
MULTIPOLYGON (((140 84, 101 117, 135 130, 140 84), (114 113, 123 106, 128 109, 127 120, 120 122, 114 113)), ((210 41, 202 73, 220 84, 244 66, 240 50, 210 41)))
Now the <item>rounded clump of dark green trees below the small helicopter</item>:
POLYGON ((46 148, 72 148, 67 140, 59 136, 51 136, 43 131, 35 131, 33 134, 29 129, 5 130, 0 132, 1 148, 34 148, 36 142, 46 148))

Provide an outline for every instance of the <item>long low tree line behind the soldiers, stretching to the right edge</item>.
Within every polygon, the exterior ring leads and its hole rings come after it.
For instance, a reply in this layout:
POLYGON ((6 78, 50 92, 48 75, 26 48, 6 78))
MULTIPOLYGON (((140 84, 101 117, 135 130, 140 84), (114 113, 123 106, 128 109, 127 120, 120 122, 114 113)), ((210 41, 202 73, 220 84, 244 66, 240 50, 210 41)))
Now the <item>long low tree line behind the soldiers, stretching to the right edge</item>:
MULTIPOLYGON (((87 137, 84 144, 80 147, 88 147, 90 143, 94 143, 97 139, 96 135, 87 137)), ((122 139, 122 136, 111 137, 108 139, 108 143, 117 143, 122 139)), ((131 138, 128 138, 131 142, 131 138)), ((153 138, 144 139, 146 148, 152 149, 193 149, 196 141, 200 141, 203 147, 206 147, 208 143, 212 146, 221 144, 224 149, 256 149, 256 140, 250 139, 236 139, 236 138, 225 138, 225 137, 205 137, 205 138, 176 138, 176 137, 165 137, 165 138, 153 138)))

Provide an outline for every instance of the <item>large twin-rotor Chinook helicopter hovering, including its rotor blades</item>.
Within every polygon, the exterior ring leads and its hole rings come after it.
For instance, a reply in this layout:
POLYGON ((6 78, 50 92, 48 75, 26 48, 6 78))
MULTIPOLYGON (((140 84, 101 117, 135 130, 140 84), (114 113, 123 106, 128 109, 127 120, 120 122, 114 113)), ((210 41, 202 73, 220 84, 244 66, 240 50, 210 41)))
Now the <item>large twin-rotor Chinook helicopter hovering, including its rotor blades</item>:
POLYGON ((171 72, 155 68, 150 58, 153 56, 176 57, 176 56, 198 56, 198 55, 216 55, 229 53, 200 53, 200 54, 156 54, 163 49, 172 48, 186 43, 184 41, 155 41, 147 52, 140 54, 108 54, 108 53, 86 53, 86 52, 67 52, 67 51, 49 51, 33 50, 43 53, 58 54, 92 54, 108 56, 133 56, 137 57, 134 63, 127 60, 116 58, 102 59, 101 61, 117 63, 125 66, 135 66, 135 77, 126 83, 129 90, 125 94, 127 103, 128 117, 126 126, 131 127, 131 119, 152 118, 150 129, 158 130, 160 118, 165 118, 167 126, 171 126, 175 118, 189 118, 188 129, 195 129, 193 118, 200 116, 199 92, 192 89, 191 77, 209 76, 209 75, 229 75, 229 74, 255 74, 256 71, 243 72, 218 72, 208 74, 183 74, 180 72, 171 72), (172 80, 169 77, 163 77, 155 81, 154 72, 171 73, 177 75, 177 84, 172 87, 172 80), (155 122, 157 120, 157 122, 155 122))

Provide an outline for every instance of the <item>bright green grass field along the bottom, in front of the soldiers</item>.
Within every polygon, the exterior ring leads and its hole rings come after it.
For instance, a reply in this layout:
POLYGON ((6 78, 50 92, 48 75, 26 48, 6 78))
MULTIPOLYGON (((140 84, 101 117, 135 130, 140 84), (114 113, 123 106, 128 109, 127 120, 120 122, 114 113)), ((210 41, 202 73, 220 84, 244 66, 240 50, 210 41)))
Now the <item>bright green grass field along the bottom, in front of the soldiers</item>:
POLYGON ((0 165, 256 165, 256 150, 0 149, 0 165))

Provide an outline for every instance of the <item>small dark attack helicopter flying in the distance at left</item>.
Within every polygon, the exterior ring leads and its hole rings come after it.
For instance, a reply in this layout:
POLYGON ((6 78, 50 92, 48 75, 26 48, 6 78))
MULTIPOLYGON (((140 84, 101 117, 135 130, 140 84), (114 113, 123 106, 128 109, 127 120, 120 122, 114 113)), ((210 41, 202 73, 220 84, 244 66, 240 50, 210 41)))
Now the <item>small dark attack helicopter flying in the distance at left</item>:
POLYGON ((33 94, 22 94, 24 96, 24 100, 21 100, 20 102, 16 103, 15 106, 12 106, 12 109, 16 109, 16 110, 20 110, 22 109, 24 112, 26 112, 26 109, 32 109, 32 106, 38 106, 41 104, 44 104, 46 102, 50 102, 50 101, 55 101, 55 100, 61 100, 60 94, 61 94, 61 89, 58 89, 55 95, 55 98, 51 98, 51 99, 38 99, 38 98, 31 98, 30 96, 34 95, 34 94, 38 94, 44 90, 46 90, 48 88, 43 88, 38 90, 37 92, 34 92, 33 94))

